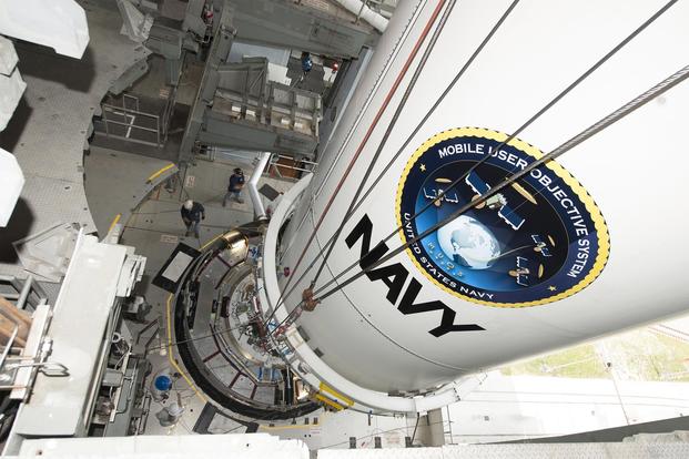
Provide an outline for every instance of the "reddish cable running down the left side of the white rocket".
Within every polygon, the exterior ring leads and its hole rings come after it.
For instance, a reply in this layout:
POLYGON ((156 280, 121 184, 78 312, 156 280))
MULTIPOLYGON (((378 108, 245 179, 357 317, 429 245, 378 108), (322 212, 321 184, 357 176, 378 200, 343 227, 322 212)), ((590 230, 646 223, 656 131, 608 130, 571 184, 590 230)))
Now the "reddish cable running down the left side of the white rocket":
MULTIPOLYGON (((416 43, 414 43, 414 48, 412 49, 412 52, 407 57, 407 60, 405 61, 404 65, 402 67, 402 70, 399 71, 399 74, 397 75, 397 78, 395 79, 394 83, 392 84, 389 91, 385 95, 385 99, 383 100, 383 104, 381 105, 381 108, 376 112, 373 121, 371 122, 371 125, 368 126, 368 130, 366 131, 366 134, 364 135, 364 139, 362 140, 361 144, 356 149, 356 152, 352 156, 352 161, 349 161, 349 164, 347 164, 347 167, 346 167, 344 174, 342 175, 342 177, 340 178, 340 182, 337 183, 337 186, 335 187, 335 191, 331 195, 328 202, 325 205, 325 208, 321 213, 321 217, 318 218, 318 222, 316 223, 316 225, 314 226, 313 231, 311 232, 311 235, 308 236, 308 239, 306 241, 306 245, 304 246, 304 249, 302 251, 300 257, 296 261, 296 264, 294 265, 294 268, 292 269, 292 276, 294 276, 296 271, 298 269, 298 267, 300 267, 300 265, 301 265, 301 263, 302 263, 302 261, 304 258, 304 255, 306 255, 306 252, 307 252, 308 247, 311 246, 314 237, 316 236, 316 233, 317 233, 318 228, 321 227, 321 224, 323 223, 323 220, 325 218, 325 215, 328 213, 331 206, 333 205, 333 202, 335 201, 335 197, 340 193, 340 190, 342 190, 342 186, 344 185, 345 180, 347 178, 347 176, 349 175, 349 172, 352 172, 352 169, 354 167, 354 163, 356 162, 356 160, 358 160, 358 156, 361 155, 362 151, 364 150, 364 146, 365 146, 366 142, 368 141, 368 139, 373 134, 373 131, 375 130, 376 125, 378 124, 378 121, 381 121, 381 118, 383 116, 383 113, 387 109, 387 105, 389 104, 391 100, 393 99, 393 95, 395 94, 395 92, 399 88, 399 84, 402 83, 402 80, 406 75, 407 70, 409 69, 409 67, 412 65, 412 62, 416 58, 416 54, 418 53, 423 42, 425 41, 426 37, 428 35, 428 32, 430 31, 430 28, 433 27, 433 23, 437 19, 437 17, 440 13, 440 10, 445 6, 445 3, 446 3, 446 0, 438 1, 438 4, 436 6, 435 10, 433 10, 433 13, 430 14, 430 18, 428 19, 428 22, 426 23, 426 26, 422 30, 418 39, 416 40, 416 43)), ((290 280, 292 280, 292 278, 293 277, 290 277, 290 279, 287 280, 287 284, 285 285, 285 288, 290 284, 290 280)), ((283 295, 281 295, 281 298, 282 297, 283 297, 283 295)), ((278 300, 277 304, 280 304, 280 300, 278 300)), ((277 305, 275 306, 275 309, 276 308, 277 308, 277 305)), ((273 315, 271 315, 271 318, 272 318, 272 316, 273 315)))

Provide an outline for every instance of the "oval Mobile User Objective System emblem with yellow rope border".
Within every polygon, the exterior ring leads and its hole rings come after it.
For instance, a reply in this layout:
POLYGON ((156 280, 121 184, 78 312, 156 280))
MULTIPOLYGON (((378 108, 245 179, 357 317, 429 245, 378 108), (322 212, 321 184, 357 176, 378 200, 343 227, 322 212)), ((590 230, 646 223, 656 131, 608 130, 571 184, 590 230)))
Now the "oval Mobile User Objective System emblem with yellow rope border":
MULTIPOLYGON (((463 128, 442 132, 416 150, 397 190, 402 241, 447 220, 543 156, 516 139, 500 146, 506 139, 504 133, 463 128)), ((608 228, 591 196, 550 161, 406 252, 426 277, 455 296, 524 307, 585 288, 602 271, 609 248, 608 228)))

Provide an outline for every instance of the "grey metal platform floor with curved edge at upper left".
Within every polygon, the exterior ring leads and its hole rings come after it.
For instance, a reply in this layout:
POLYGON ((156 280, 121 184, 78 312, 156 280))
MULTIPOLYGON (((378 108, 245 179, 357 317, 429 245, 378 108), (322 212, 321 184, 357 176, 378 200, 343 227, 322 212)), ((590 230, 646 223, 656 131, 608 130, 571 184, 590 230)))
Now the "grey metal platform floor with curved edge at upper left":
POLYGON ((120 34, 114 6, 79 0, 89 47, 81 60, 31 43, 16 43, 28 86, 0 146, 14 153, 27 177, 10 225, 0 231, 0 273, 22 276, 11 242, 58 222, 95 231, 83 184, 83 146, 110 84, 149 51, 120 34))

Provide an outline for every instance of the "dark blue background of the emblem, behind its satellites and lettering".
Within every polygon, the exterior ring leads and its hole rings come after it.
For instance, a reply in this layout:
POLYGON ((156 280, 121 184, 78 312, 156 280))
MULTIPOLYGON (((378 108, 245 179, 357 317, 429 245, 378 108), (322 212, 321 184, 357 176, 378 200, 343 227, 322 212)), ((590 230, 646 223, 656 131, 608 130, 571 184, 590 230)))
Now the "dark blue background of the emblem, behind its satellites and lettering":
MULTIPOLYGON (((462 153, 446 156, 444 159, 439 157, 438 150, 447 145, 459 143, 472 145, 480 143, 484 145, 484 151, 487 151, 489 146, 495 147, 499 144, 497 141, 484 137, 454 137, 437 143, 422 154, 412 166, 402 191, 399 217, 403 224, 406 223, 404 218, 405 213, 413 215, 414 213, 421 211, 430 201, 424 196, 424 186, 426 186, 426 190, 429 190, 434 178, 439 176, 454 181, 466 172, 470 165, 484 157, 484 154, 476 153, 462 153), (421 170, 421 164, 425 165, 425 172, 421 170)), ((535 161, 528 154, 510 145, 504 145, 500 150, 504 150, 508 154, 513 154, 513 160, 516 156, 518 159, 523 159, 527 163, 535 161)), ((538 206, 531 205, 526 198, 511 188, 507 188, 505 192, 508 204, 516 211, 515 213, 524 213, 526 215, 526 223, 519 231, 515 232, 511 230, 510 226, 498 217, 495 212, 487 208, 480 211, 470 210, 465 213, 465 215, 478 220, 484 226, 490 230, 490 232, 498 239, 500 252, 503 254, 508 251, 517 249, 517 252, 514 253, 515 257, 509 255, 498 258, 494 265, 487 269, 473 269, 452 262, 450 263, 455 265, 455 267, 448 268, 447 254, 443 253, 439 248, 437 232, 434 232, 429 236, 425 237, 421 244, 412 251, 413 256, 422 266, 424 266, 427 275, 435 277, 442 285, 463 296, 472 296, 490 303, 508 304, 519 304, 548 298, 563 293, 581 282, 586 274, 588 274, 588 272, 590 272, 594 267, 596 255, 598 254, 598 237, 596 235, 594 222, 586 211, 584 203, 579 200, 576 193, 555 174, 555 172, 544 166, 540 166, 539 170, 554 180, 548 187, 544 187, 543 184, 540 184, 531 175, 527 175, 519 181, 519 184, 536 196, 539 203, 538 206), (576 235, 575 226, 569 220, 566 210, 560 205, 558 198, 553 194, 553 192, 548 190, 550 188, 553 191, 557 191, 556 187, 558 186, 567 194, 567 197, 570 198, 575 206, 579 210, 581 222, 589 231, 588 236, 581 237, 576 235), (544 202, 547 202, 548 204, 546 205, 544 202), (550 247, 553 255, 551 257, 545 258, 537 256, 534 253, 533 247, 519 251, 519 247, 524 247, 528 244, 533 245, 533 241, 530 238, 531 234, 554 235, 554 238, 558 242, 558 244, 556 244, 555 247, 550 247), (570 277, 567 276, 567 273, 577 257, 577 239, 581 238, 589 241, 589 258, 586 261, 584 271, 577 273, 577 277, 570 277), (531 273, 537 272, 537 266, 539 264, 544 264, 544 276, 541 278, 530 276, 531 278, 528 286, 518 285, 516 283, 516 278, 508 274, 510 269, 516 268, 516 255, 524 255, 524 257, 529 259, 528 265, 531 273), (424 258, 427 263, 424 263, 424 258), (453 286, 447 280, 443 282, 442 277, 434 274, 434 269, 450 278, 454 283, 456 283, 456 285, 453 286), (548 288, 551 286, 555 286, 556 290, 550 290, 548 288), (463 287, 476 292, 489 293, 493 297, 477 297, 467 294, 466 289, 463 289, 463 287)), ((485 164, 482 164, 476 169, 478 175, 484 177, 490 185, 497 184, 500 180, 516 171, 517 169, 507 164, 505 161, 498 160, 497 157, 490 157, 485 164)), ((452 192, 447 193, 447 195, 457 197, 458 203, 454 204, 444 202, 439 208, 435 205, 430 205, 412 223, 414 234, 419 234, 442 218, 452 214, 454 211, 467 203, 474 194, 476 194, 475 191, 462 181, 455 188, 452 190, 452 192)), ((405 232, 405 239, 408 241, 409 238, 411 235, 408 232, 405 232)))

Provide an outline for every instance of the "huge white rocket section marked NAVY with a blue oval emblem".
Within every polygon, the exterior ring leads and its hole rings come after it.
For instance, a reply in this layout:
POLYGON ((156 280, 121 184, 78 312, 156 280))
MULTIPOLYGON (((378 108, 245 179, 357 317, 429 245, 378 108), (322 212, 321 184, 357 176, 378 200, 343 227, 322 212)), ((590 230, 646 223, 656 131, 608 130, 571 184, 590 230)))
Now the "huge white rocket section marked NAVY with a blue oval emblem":
POLYGON ((503 17, 510 2, 472 0, 445 18, 448 3, 399 3, 317 171, 265 237, 268 327, 337 407, 437 408, 469 375, 689 307, 689 218, 676 205, 689 196, 689 82, 490 194, 689 64, 689 2, 521 1, 503 17))

